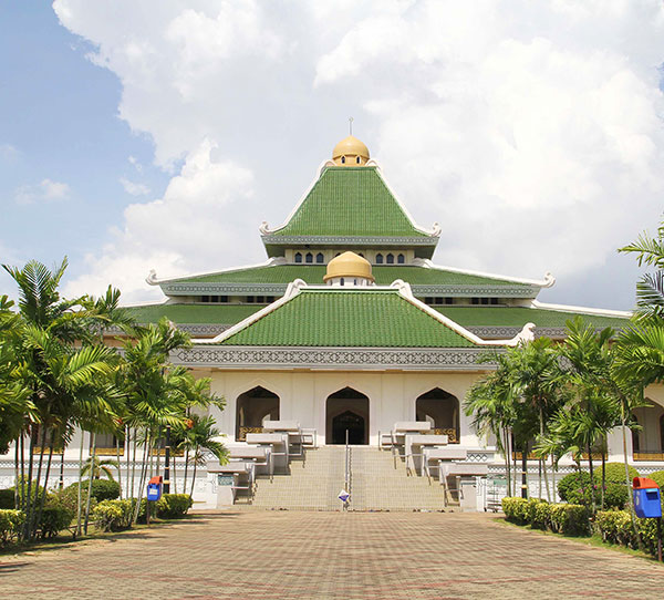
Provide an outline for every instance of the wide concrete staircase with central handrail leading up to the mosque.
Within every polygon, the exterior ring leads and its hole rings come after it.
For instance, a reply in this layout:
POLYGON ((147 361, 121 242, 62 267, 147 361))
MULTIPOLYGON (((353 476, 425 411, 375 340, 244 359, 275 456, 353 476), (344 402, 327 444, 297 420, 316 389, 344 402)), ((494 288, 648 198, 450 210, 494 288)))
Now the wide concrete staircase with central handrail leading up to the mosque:
MULTIPOLYGON (((345 448, 322 446, 307 449, 304 461, 292 461, 289 475, 257 482, 250 505, 256 509, 341 510, 338 498, 344 487, 345 448)), ((408 477, 403 459, 396 468, 388 451, 351 447, 350 510, 452 510, 438 482, 408 477)), ((243 500, 240 500, 243 504, 243 500)), ((238 504, 240 504, 238 503, 238 504)))

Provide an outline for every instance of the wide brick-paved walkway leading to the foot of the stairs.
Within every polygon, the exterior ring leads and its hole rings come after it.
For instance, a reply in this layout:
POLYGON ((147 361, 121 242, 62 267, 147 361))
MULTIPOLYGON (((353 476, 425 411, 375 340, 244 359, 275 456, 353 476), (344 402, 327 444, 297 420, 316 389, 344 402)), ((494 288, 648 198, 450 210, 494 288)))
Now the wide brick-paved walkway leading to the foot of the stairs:
POLYGON ((664 567, 485 515, 246 511, 0 557, 0 598, 661 597, 664 567))

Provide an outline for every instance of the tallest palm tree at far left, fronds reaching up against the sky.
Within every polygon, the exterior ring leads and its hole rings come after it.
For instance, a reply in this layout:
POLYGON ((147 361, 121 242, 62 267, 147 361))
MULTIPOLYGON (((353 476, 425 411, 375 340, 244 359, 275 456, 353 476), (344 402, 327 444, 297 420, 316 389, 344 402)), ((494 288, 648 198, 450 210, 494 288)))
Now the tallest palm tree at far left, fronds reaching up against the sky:
POLYGON ((92 325, 97 318, 84 307, 85 299, 60 297, 58 288, 66 269, 66 258, 53 271, 38 261, 30 261, 22 269, 6 265, 3 268, 19 287, 20 334, 14 337, 12 349, 21 385, 30 390, 29 401, 34 406, 25 415, 18 436, 21 446, 23 432, 30 439, 27 489, 21 489, 21 503, 27 513, 22 537, 30 539, 34 537, 35 524, 43 510, 54 446, 71 428, 72 406, 77 399, 90 402, 94 397, 101 402, 98 392, 113 371, 115 352, 91 345, 92 325), (34 483, 38 489, 42 487, 41 495, 31 490, 38 447, 34 483))

